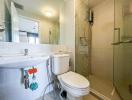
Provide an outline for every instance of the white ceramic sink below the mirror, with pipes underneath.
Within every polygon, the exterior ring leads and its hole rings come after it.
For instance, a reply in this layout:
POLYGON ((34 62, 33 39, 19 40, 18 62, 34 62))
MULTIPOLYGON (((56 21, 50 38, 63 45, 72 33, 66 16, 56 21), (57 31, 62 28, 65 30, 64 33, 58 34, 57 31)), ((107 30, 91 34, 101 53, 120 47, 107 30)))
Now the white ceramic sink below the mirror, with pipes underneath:
POLYGON ((0 68, 26 68, 43 63, 48 56, 10 56, 0 57, 0 68))

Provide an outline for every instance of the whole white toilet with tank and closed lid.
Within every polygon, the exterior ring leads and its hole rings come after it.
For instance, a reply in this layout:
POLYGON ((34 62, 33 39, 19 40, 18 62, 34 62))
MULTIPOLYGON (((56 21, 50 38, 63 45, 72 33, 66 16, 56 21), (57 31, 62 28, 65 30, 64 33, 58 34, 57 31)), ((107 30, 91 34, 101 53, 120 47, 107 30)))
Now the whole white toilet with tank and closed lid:
POLYGON ((57 76, 62 90, 67 92, 66 100, 83 100, 89 94, 90 83, 82 75, 69 71, 69 54, 55 54, 52 56, 52 72, 57 76))

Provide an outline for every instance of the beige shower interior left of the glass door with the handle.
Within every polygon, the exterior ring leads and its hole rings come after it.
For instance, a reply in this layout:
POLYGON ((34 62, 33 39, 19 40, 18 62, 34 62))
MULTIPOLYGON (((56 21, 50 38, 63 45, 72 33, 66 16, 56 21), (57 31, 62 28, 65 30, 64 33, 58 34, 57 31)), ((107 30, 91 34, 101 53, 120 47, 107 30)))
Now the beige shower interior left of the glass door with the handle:
POLYGON ((114 28, 114 2, 113 0, 91 1, 92 3, 90 0, 75 2, 76 72, 88 78, 93 94, 109 100, 113 91, 111 42, 114 28))

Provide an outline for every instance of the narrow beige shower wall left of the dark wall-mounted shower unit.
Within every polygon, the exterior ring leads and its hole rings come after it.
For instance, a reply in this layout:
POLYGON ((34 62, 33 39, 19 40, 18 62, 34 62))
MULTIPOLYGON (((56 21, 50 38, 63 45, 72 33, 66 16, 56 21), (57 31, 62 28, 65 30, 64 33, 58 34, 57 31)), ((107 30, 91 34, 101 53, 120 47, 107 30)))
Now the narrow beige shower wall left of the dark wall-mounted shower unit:
POLYGON ((90 74, 91 32, 88 22, 88 5, 84 0, 76 0, 76 71, 84 76, 90 74), (81 44, 80 37, 87 46, 81 44))

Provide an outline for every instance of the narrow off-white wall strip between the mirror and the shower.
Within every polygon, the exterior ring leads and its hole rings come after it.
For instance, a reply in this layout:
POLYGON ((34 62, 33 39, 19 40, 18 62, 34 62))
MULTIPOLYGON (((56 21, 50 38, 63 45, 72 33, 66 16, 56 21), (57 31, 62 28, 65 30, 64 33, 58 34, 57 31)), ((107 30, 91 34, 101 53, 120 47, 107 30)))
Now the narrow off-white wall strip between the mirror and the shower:
POLYGON ((75 1, 64 0, 60 9, 60 44, 66 45, 72 52, 72 70, 75 69, 75 1))

